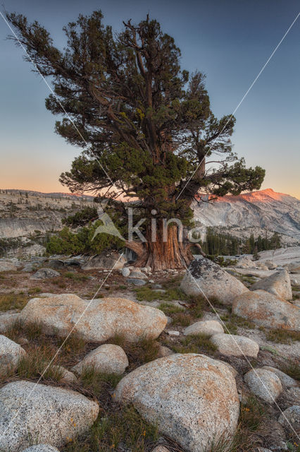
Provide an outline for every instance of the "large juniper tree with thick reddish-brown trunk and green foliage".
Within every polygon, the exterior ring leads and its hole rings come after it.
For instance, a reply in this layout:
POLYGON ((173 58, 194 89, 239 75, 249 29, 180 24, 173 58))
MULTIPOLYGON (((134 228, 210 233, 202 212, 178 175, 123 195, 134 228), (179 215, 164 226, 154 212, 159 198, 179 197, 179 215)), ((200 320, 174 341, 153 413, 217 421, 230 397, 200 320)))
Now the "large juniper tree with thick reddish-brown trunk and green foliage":
POLYGON ((55 95, 46 108, 62 117, 56 133, 82 148, 62 184, 118 199, 119 208, 122 197, 139 200, 146 242, 126 244, 137 266, 188 264, 189 242, 178 237, 175 222, 163 237, 163 219, 188 224, 199 191, 237 195, 259 189, 265 173, 232 153, 235 118, 213 115, 204 74, 181 68, 173 37, 148 16, 138 25, 124 22, 114 34, 101 11, 80 15, 64 28, 63 50, 36 21, 7 18, 27 49, 25 59, 51 79, 55 95))

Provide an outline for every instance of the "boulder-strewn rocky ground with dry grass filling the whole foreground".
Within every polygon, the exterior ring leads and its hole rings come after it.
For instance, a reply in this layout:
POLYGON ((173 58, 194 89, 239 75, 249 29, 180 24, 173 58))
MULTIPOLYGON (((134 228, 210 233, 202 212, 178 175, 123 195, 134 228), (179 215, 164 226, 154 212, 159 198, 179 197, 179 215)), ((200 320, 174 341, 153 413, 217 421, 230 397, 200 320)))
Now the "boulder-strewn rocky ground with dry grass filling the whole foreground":
POLYGON ((296 452, 297 251, 118 258, 0 260, 0 450, 296 452))

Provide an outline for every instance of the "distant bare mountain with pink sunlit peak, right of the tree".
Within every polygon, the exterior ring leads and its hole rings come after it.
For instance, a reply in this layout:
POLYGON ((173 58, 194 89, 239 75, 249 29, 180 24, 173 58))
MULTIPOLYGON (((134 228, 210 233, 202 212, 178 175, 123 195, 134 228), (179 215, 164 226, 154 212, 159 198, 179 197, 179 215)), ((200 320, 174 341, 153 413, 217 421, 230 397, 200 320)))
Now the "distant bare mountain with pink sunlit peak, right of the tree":
POLYGON ((288 244, 300 243, 299 199, 272 189, 223 196, 209 203, 194 202, 192 208, 202 227, 220 227, 239 237, 243 231, 255 235, 273 231, 287 236, 288 244))

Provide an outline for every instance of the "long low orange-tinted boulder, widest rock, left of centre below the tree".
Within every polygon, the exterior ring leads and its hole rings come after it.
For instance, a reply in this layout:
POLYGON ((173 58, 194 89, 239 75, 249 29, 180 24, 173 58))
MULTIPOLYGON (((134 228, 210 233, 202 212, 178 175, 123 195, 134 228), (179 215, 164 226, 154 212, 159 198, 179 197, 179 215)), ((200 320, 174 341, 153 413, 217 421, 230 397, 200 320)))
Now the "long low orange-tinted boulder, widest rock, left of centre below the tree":
POLYGON ((126 298, 101 298, 87 302, 77 295, 33 298, 19 314, 20 321, 38 322, 45 333, 67 335, 71 330, 91 342, 122 335, 128 342, 156 339, 167 318, 163 311, 126 298))

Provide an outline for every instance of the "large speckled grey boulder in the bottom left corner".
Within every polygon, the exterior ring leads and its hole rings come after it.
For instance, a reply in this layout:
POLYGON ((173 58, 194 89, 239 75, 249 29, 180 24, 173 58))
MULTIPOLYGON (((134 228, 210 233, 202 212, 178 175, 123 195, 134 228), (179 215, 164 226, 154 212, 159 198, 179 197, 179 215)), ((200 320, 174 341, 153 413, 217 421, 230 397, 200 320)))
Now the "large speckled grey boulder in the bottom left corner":
POLYGON ((0 389, 0 450, 19 452, 32 445, 60 447, 92 426, 98 403, 75 391, 30 381, 0 389))

